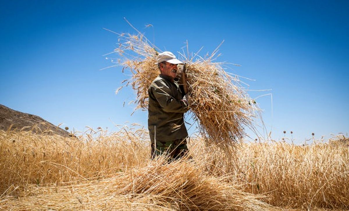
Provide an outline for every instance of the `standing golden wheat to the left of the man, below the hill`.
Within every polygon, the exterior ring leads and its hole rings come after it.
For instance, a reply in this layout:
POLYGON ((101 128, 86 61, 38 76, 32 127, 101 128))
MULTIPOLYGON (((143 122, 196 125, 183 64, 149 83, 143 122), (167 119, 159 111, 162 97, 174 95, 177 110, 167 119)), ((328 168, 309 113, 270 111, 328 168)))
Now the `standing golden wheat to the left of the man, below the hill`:
POLYGON ((144 166, 148 158, 145 136, 144 130, 129 128, 109 135, 90 130, 78 138, 0 130, 0 193, 31 184, 103 178, 144 166))

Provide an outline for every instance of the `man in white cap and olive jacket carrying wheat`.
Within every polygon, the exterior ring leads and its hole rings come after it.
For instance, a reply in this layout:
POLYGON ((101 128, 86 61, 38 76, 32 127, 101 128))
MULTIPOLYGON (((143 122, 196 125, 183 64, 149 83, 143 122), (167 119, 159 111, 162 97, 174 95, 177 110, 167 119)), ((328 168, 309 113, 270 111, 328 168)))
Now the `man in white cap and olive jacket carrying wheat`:
POLYGON ((151 158, 166 153, 170 160, 183 157, 187 151, 187 129, 183 115, 189 110, 187 98, 183 97, 176 77, 177 64, 183 64, 173 53, 158 54, 160 75, 148 89, 148 129, 151 140, 151 158))

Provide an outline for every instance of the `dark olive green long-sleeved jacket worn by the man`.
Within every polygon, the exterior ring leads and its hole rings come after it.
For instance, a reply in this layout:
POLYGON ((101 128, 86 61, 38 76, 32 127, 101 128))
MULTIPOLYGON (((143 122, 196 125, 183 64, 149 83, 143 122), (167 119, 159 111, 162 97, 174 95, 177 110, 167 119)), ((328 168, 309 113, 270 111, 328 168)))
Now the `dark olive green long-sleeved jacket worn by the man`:
POLYGON ((172 141, 188 136, 183 115, 188 105, 176 82, 159 75, 149 86, 148 129, 151 143, 172 141))

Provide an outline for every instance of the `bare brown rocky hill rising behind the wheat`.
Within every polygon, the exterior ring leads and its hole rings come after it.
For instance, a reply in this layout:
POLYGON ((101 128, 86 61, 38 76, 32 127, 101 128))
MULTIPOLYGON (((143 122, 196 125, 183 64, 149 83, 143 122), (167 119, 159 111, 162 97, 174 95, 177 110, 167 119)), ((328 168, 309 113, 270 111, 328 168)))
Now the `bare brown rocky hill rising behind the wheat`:
POLYGON ((7 131, 9 127, 11 127, 11 130, 16 131, 31 130, 39 134, 57 134, 64 137, 72 136, 67 131, 47 122, 39 116, 15 111, 0 104, 0 130, 7 131))

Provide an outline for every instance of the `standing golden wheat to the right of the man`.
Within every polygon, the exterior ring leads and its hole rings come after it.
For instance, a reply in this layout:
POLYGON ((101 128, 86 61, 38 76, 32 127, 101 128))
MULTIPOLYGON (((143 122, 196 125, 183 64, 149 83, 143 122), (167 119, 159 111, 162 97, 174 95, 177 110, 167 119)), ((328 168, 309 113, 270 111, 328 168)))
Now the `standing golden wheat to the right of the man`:
POLYGON ((195 150, 211 175, 227 175, 248 193, 290 208, 349 208, 348 147, 327 143, 244 143, 229 158, 218 149, 195 150))

